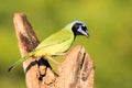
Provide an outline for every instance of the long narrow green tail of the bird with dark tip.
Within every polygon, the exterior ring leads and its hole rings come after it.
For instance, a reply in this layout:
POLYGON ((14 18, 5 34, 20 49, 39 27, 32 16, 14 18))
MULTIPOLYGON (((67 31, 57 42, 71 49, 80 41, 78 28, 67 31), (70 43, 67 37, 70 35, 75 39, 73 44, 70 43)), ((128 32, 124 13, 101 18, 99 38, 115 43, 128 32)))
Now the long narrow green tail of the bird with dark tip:
POLYGON ((35 53, 34 52, 31 52, 29 53, 28 55, 23 56, 22 58, 20 58, 18 62, 15 62, 13 65, 11 65, 11 67, 8 69, 8 72, 10 73, 12 69, 14 69, 19 64, 21 64, 22 62, 24 62, 26 58, 33 56, 35 53))

